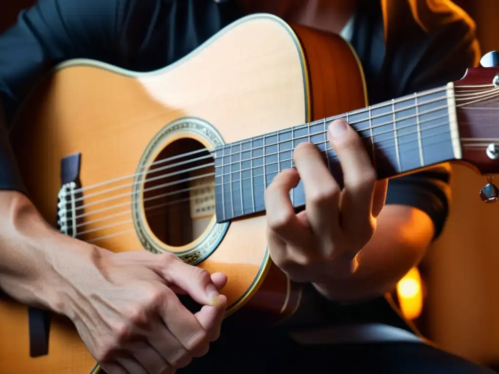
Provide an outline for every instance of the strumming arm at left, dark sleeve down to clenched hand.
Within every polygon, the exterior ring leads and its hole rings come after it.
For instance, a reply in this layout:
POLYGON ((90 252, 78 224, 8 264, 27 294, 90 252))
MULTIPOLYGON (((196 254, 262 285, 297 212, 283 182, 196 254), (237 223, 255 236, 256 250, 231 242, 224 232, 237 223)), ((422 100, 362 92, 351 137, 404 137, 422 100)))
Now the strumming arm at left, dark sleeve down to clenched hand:
MULTIPOLYGON (((32 80, 58 61, 87 57, 126 66, 131 59, 147 58, 147 51, 141 54, 137 48, 154 28, 153 15, 162 4, 161 0, 40 0, 22 12, 0 36, 0 105, 7 121, 32 80)), ((163 10, 169 8, 165 5, 163 10)), ((156 31, 164 35, 161 29, 156 31)), ((149 53, 153 50, 149 48, 149 53)), ((50 227, 22 185, 4 118, 1 113, 2 291, 72 320, 89 352, 108 373, 172 371, 188 365, 193 356, 205 355, 220 333, 226 299, 218 290, 227 281, 225 275, 210 276, 171 254, 112 253, 50 227), (178 289, 204 307, 189 312, 174 292, 178 289)))

